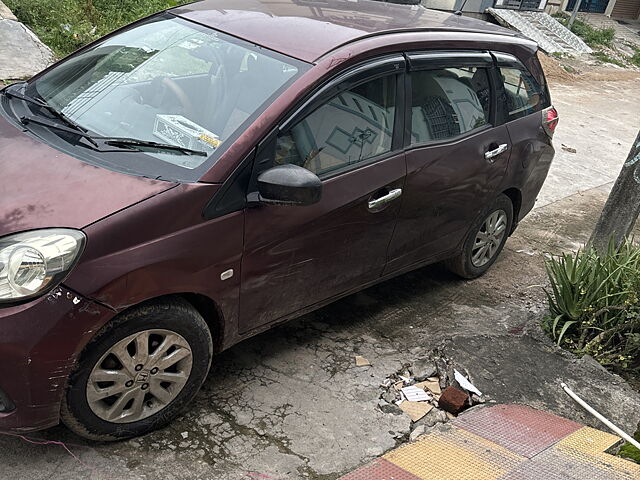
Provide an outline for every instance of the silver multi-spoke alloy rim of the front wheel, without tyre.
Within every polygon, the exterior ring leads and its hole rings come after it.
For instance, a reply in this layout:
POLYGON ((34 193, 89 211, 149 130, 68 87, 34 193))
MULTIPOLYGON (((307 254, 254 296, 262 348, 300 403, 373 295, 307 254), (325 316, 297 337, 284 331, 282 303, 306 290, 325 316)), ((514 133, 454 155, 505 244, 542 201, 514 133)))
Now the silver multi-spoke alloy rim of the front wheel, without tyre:
POLYGON ((91 411, 107 422, 132 423, 168 406, 193 364, 189 343, 169 330, 143 330, 111 347, 87 381, 91 411))

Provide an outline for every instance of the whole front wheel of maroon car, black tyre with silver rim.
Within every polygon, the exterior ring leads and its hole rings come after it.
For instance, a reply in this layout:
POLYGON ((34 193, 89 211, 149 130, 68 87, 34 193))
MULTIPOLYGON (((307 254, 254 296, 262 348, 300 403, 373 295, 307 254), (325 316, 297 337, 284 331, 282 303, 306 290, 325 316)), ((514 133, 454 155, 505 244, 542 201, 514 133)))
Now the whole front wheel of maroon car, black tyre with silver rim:
POLYGON ((80 355, 62 402, 62 422, 96 441, 151 432, 193 399, 212 356, 211 332, 185 300, 133 308, 106 325, 80 355))

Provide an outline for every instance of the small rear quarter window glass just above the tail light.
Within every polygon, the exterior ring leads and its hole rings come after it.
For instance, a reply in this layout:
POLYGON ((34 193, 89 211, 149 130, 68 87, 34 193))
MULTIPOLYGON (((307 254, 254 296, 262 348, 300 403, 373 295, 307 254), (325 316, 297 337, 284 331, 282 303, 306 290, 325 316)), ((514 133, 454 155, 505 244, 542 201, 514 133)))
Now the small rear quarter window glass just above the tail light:
POLYGON ((545 107, 544 92, 529 72, 500 67, 500 75, 504 82, 508 120, 524 117, 545 107))

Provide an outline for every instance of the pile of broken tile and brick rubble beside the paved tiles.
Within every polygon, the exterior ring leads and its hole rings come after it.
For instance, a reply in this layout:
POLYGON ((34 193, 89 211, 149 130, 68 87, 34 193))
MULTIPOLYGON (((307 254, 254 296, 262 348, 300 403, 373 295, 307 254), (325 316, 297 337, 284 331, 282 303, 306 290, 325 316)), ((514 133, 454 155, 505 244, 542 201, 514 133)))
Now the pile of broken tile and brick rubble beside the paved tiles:
POLYGON ((404 364, 380 384, 378 408, 385 413, 408 415, 412 422, 410 439, 415 439, 426 428, 485 403, 482 392, 469 380, 468 372, 460 370, 442 357, 404 364))

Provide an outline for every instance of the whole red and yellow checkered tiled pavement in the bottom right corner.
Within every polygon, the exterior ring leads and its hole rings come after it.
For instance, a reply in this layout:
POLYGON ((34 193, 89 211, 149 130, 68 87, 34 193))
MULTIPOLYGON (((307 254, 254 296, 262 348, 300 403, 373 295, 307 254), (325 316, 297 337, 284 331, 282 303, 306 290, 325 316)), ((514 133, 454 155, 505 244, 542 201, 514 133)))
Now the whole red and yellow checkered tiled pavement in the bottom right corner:
POLYGON ((521 405, 471 410, 340 480, 640 480, 620 438, 521 405))

